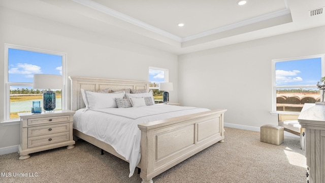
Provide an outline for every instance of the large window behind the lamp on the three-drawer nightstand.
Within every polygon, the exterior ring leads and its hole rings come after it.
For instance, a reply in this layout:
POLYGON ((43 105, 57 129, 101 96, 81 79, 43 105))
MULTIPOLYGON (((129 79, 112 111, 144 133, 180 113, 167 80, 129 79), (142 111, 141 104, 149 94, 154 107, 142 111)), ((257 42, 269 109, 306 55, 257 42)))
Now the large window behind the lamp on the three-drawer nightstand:
MULTIPOLYGON (((17 119, 19 112, 30 112, 32 101, 41 101, 43 106, 44 90, 32 88, 34 74, 56 74, 66 78, 66 54, 6 44, 5 120, 17 119)), ((65 92, 65 87, 56 90, 55 110, 66 108, 65 92)))

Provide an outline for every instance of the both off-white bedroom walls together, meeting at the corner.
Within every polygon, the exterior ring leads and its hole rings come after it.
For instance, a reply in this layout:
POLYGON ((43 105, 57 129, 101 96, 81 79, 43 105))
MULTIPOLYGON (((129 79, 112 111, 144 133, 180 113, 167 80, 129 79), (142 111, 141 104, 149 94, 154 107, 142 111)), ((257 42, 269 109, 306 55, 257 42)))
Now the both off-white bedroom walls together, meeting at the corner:
MULTIPOLYGON (((271 60, 325 53, 324 33, 325 26, 177 57, 0 7, 0 71, 5 69, 5 43, 67 53, 68 76, 148 80, 149 66, 167 68, 174 83, 171 102, 225 108, 225 123, 259 128, 277 123, 277 116, 269 113, 271 60)), ((4 96, 2 74, 0 85, 4 96)), ((69 88, 68 82, 68 101, 69 88)), ((0 151, 19 144, 19 136, 19 125, 0 125, 0 151)))

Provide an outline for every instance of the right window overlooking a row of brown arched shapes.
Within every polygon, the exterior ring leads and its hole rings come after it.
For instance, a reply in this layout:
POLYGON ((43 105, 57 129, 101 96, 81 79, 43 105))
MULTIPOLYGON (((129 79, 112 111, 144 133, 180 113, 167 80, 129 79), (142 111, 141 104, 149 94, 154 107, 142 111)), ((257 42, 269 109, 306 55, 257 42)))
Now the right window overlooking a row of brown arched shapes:
POLYGON ((324 62, 324 55, 272 60, 273 111, 300 112, 305 103, 319 102, 324 62))

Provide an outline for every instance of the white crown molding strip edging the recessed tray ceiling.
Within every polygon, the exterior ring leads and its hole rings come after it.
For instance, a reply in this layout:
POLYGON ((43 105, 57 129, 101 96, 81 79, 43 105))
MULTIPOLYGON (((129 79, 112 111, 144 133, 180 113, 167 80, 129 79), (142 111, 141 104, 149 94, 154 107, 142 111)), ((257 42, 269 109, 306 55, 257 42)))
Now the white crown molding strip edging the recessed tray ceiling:
MULTIPOLYGON (((286 9, 279 10, 279 11, 276 11, 276 12, 268 13, 266 15, 254 17, 254 18, 247 19, 247 20, 244 20, 244 21, 240 21, 240 22, 237 22, 237 23, 233 23, 233 24, 230 24, 230 25, 215 28, 215 29, 212 29, 210 31, 206 31, 206 32, 203 32, 203 33, 199 33, 199 34, 196 34, 196 35, 189 36, 189 37, 181 38, 181 37, 178 37, 178 36, 176 36, 174 34, 166 32, 166 31, 164 31, 164 30, 162 30, 160 28, 149 25, 149 24, 147 24, 147 23, 145 23, 143 21, 140 21, 140 20, 135 19, 133 17, 127 16, 127 15, 125 15, 123 13, 115 11, 115 10, 113 10, 111 8, 108 8, 106 6, 103 6, 101 4, 95 3, 95 2, 93 2, 91 0, 72 0, 72 1, 76 2, 76 3, 79 3, 81 5, 87 6, 89 8, 92 8, 94 10, 103 12, 105 14, 108 14, 108 15, 113 16, 115 18, 118 18, 120 20, 124 20, 124 21, 126 21, 128 23, 132 23, 132 24, 137 25, 139 27, 145 28, 145 29, 147 29, 149 31, 152 31, 152 32, 157 33, 157 34, 162 35, 162 36, 165 36, 165 37, 170 38, 172 40, 178 41, 180 43, 190 41, 190 40, 194 40, 194 39, 198 39, 198 38, 202 38, 202 37, 205 37, 205 36, 210 36, 210 35, 213 35, 213 34, 224 32, 224 31, 229 31, 231 29, 238 28, 238 27, 245 26, 245 25, 249 25, 249 24, 252 24, 252 23, 257 23, 257 22, 261 22, 261 21, 268 20, 268 19, 271 19, 271 18, 276 18, 276 17, 279 17, 279 16, 290 14, 290 10, 288 8, 286 8, 286 9)), ((285 2, 287 2, 287 0, 285 0, 285 2)))

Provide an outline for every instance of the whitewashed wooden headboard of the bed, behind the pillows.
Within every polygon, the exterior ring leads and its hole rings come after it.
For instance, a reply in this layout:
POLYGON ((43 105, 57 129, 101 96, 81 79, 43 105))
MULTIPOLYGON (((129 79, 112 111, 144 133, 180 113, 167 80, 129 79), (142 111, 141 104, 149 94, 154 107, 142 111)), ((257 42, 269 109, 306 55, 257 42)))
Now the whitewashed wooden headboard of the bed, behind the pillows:
POLYGON ((85 107, 82 99, 81 90, 100 90, 110 88, 118 89, 147 89, 149 92, 149 81, 121 80, 107 78, 89 78, 69 76, 71 80, 71 110, 78 110, 85 107))

